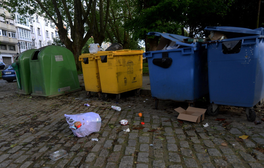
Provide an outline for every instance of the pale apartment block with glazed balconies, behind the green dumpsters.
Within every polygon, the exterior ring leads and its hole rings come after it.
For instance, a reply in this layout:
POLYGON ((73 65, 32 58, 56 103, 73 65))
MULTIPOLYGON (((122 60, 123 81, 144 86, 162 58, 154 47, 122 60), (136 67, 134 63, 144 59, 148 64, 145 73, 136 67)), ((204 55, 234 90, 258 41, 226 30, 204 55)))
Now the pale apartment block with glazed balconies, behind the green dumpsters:
POLYGON ((15 13, 15 18, 11 18, 3 8, 0 8, 0 14, 6 18, 0 16, 0 62, 6 65, 13 63, 14 58, 25 50, 51 45, 58 35, 54 23, 42 16, 33 15, 31 20, 15 13))

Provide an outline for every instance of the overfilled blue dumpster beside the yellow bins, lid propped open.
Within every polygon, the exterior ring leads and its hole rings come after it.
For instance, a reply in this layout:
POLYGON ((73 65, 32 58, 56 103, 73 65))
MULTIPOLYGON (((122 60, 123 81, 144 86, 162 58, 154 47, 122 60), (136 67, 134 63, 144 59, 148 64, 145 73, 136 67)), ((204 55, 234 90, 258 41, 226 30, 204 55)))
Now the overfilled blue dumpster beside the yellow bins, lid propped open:
MULTIPOLYGON (((155 109, 158 99, 193 103, 208 94, 207 56, 201 45, 184 43, 188 37, 168 33, 150 32, 175 42, 177 49, 143 53, 148 58, 151 95, 155 109)), ((205 52, 206 53, 206 52, 205 52)))

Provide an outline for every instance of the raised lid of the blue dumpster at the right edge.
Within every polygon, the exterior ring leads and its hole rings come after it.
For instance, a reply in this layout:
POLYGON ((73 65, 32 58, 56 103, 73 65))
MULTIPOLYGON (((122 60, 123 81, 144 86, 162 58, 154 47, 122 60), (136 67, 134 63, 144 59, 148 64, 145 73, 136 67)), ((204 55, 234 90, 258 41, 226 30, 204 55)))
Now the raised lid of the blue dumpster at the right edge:
POLYGON ((247 28, 242 28, 242 27, 219 26, 219 27, 205 27, 204 30, 222 32, 229 39, 236 38, 236 37, 253 36, 253 35, 264 35, 263 28, 252 30, 252 29, 247 29, 247 28))

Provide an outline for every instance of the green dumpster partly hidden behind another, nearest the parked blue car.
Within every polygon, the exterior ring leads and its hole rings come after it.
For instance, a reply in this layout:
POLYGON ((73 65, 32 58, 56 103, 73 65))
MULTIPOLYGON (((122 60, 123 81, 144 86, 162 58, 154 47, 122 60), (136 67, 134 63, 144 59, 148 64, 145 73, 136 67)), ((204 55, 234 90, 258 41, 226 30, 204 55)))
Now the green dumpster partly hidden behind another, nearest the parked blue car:
POLYGON ((20 95, 30 95, 32 93, 29 60, 35 50, 30 49, 20 53, 16 56, 15 62, 12 63, 12 67, 16 72, 17 93, 20 95))

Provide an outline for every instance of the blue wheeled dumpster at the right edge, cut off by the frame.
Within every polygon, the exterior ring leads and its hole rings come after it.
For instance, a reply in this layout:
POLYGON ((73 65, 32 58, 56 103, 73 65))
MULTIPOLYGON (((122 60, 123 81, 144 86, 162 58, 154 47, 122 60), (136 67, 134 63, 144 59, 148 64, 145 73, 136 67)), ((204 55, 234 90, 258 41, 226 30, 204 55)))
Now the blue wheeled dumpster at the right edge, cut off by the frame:
POLYGON ((263 28, 206 27, 227 39, 206 42, 210 103, 209 115, 217 115, 217 104, 246 107, 248 121, 255 121, 253 106, 264 97, 263 28))

